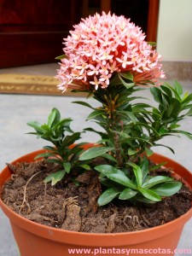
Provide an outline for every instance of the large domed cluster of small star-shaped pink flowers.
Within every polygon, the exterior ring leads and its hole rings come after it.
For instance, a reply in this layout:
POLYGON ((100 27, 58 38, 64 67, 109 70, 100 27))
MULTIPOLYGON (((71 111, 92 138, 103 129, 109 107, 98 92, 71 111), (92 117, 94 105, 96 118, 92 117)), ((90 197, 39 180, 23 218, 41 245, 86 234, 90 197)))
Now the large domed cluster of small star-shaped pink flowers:
POLYGON ((125 71, 137 85, 155 85, 165 75, 160 55, 144 39, 141 28, 124 16, 102 13, 82 19, 64 39, 58 88, 107 88, 114 73, 125 71))

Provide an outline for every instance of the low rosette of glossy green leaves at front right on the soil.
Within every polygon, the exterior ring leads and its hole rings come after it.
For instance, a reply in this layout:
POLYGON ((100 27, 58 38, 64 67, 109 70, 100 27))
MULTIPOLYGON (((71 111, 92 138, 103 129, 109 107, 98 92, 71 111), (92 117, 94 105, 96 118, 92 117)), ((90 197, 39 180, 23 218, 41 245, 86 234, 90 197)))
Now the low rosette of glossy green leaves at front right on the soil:
POLYGON ((150 176, 146 158, 140 166, 134 163, 128 163, 128 166, 131 166, 131 169, 127 169, 127 172, 109 165, 95 167, 96 171, 101 173, 101 182, 108 187, 99 197, 99 206, 108 204, 116 197, 119 200, 154 203, 161 201, 161 196, 173 195, 181 189, 182 183, 173 181, 172 177, 150 176))

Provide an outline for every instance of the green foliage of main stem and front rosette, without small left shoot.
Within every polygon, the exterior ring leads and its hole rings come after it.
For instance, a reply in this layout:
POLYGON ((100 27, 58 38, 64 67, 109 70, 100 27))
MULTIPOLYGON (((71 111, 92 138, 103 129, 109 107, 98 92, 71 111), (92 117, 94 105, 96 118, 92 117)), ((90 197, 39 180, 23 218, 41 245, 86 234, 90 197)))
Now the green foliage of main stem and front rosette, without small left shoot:
POLYGON ((137 90, 131 73, 116 74, 108 90, 98 88, 93 93, 101 107, 92 108, 84 102, 77 102, 91 108, 88 120, 94 120, 101 131, 87 128, 101 136, 100 147, 90 148, 80 160, 102 157, 108 165, 96 166, 104 190, 98 204, 103 206, 114 198, 119 200, 161 201, 181 188, 181 183, 171 177, 151 176, 151 172, 161 165, 148 167, 148 160, 141 155, 153 154, 154 146, 164 146, 160 140, 167 136, 183 134, 192 139, 192 134, 180 129, 180 122, 192 115, 192 94, 183 93, 181 84, 163 84, 150 89, 155 107, 143 102, 143 97, 134 96, 137 90), (138 102, 139 100, 139 102, 138 102), (149 172, 150 169, 150 172, 149 172))

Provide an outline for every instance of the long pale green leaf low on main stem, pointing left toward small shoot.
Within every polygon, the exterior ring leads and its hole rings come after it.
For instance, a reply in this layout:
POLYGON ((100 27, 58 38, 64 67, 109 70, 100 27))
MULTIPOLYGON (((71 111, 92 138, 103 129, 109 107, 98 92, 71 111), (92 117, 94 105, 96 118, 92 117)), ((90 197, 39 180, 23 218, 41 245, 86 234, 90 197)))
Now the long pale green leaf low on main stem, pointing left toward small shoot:
POLYGON ((89 148, 86 151, 84 151, 83 154, 81 154, 81 156, 79 157, 79 160, 89 160, 92 158, 96 158, 97 156, 101 156, 102 154, 105 154, 112 149, 113 148, 109 148, 109 147, 89 148))

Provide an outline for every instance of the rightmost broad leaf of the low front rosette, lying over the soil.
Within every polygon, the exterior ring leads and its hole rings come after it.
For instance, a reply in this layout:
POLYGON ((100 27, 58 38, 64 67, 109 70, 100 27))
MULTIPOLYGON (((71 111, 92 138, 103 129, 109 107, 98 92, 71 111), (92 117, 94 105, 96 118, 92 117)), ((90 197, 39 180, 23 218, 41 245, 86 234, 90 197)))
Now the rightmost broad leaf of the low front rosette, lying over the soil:
POLYGON ((160 196, 170 196, 176 194, 181 189, 182 183, 168 182, 155 186, 153 191, 160 196))

